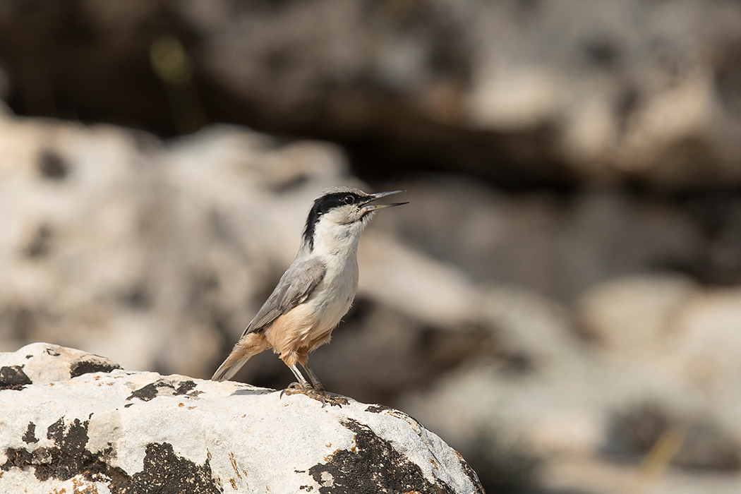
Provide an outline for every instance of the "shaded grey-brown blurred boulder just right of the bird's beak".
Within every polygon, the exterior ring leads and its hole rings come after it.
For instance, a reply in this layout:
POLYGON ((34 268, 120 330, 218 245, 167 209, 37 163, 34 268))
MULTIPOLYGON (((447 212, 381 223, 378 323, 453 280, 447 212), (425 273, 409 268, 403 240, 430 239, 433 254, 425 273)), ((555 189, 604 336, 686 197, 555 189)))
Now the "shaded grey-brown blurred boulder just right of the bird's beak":
MULTIPOLYGON (((713 278, 719 268, 708 261, 721 249, 731 266, 741 261, 734 251, 737 213, 714 214, 729 224, 722 230, 728 241, 714 246, 709 226, 688 208, 619 190, 507 194, 445 176, 394 187, 409 190, 413 207, 376 221, 405 243, 462 267, 473 281, 529 287, 566 304, 611 278, 659 267, 713 278)), ((736 279, 736 271, 724 273, 725 282, 736 279)))

